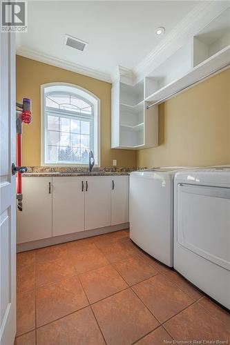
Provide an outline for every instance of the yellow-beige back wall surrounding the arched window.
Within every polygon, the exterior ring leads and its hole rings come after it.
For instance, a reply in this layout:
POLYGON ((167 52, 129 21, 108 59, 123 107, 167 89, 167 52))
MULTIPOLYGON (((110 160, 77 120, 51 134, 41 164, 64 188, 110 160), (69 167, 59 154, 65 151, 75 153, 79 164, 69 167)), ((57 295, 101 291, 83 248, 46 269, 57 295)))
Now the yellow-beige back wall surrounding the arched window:
POLYGON ((32 124, 23 126, 22 157, 26 166, 41 165, 40 86, 52 82, 73 83, 101 99, 101 166, 136 166, 136 152, 111 149, 111 83, 17 56, 17 101, 32 99, 32 124))

